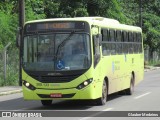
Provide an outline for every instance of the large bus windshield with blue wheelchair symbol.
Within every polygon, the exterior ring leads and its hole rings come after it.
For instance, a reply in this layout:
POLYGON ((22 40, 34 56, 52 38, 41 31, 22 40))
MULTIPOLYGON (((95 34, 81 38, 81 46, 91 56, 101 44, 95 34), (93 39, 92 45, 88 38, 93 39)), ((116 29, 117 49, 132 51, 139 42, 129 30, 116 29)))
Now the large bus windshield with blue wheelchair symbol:
POLYGON ((86 33, 36 34, 24 37, 23 68, 28 71, 87 69, 91 65, 86 33))

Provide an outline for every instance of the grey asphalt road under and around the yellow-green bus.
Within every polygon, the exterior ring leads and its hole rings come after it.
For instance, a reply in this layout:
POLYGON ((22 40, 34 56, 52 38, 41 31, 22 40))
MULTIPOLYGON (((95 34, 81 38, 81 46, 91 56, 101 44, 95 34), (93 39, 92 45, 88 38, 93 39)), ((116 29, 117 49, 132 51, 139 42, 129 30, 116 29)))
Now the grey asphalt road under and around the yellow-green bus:
POLYGON ((132 96, 113 94, 104 106, 90 101, 54 101, 43 107, 40 101, 24 101, 22 93, 0 96, 0 110, 82 110, 82 111, 160 111, 160 69, 145 72, 144 80, 132 96))

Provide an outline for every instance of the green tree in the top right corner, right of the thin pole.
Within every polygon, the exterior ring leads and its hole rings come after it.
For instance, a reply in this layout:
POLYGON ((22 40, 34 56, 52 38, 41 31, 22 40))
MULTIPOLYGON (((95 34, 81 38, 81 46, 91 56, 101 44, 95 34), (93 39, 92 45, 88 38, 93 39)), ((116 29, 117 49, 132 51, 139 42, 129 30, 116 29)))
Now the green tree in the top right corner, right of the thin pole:
POLYGON ((150 56, 160 50, 160 1, 143 1, 143 32, 144 43, 149 46, 150 56))

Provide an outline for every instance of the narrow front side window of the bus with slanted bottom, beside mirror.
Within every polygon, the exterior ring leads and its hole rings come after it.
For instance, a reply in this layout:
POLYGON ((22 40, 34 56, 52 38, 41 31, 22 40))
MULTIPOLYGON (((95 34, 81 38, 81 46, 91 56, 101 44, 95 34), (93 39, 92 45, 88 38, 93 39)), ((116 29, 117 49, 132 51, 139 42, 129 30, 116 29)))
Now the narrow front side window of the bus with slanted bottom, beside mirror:
POLYGON ((94 54, 94 67, 96 67, 97 63, 100 60, 99 38, 96 35, 93 36, 93 54, 94 54))

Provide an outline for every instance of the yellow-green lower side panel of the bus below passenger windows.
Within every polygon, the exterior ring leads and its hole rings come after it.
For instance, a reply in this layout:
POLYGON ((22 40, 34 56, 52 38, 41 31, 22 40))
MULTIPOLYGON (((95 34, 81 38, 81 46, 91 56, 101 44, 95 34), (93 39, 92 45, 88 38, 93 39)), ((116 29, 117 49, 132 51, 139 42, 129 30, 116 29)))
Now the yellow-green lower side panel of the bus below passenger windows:
POLYGON ((108 93, 114 93, 130 87, 132 72, 135 85, 143 80, 143 54, 110 55, 102 57, 102 74, 109 81, 108 93))

